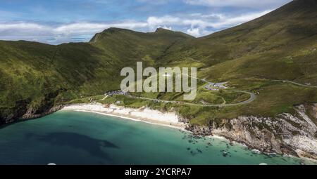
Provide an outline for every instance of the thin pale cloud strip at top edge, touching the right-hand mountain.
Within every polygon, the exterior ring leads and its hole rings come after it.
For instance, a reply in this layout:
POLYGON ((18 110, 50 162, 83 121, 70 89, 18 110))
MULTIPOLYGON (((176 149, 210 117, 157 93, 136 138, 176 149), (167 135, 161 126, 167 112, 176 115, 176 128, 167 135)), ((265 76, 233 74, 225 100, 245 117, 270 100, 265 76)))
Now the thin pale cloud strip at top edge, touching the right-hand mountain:
POLYGON ((248 7, 248 8, 273 8, 286 4, 291 0, 184 0, 186 4, 201 5, 201 6, 235 6, 235 7, 248 7))

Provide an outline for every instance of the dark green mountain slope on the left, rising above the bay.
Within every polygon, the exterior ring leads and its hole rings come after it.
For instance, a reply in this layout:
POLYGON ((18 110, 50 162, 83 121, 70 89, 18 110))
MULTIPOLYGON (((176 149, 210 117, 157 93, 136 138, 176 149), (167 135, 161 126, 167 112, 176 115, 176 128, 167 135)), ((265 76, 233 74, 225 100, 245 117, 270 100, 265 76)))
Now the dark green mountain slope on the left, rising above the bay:
POLYGON ((111 28, 90 43, 0 41, 0 124, 30 107, 37 114, 61 102, 119 89, 122 67, 135 67, 140 60, 152 65, 166 48, 191 38, 163 29, 141 33, 111 28))

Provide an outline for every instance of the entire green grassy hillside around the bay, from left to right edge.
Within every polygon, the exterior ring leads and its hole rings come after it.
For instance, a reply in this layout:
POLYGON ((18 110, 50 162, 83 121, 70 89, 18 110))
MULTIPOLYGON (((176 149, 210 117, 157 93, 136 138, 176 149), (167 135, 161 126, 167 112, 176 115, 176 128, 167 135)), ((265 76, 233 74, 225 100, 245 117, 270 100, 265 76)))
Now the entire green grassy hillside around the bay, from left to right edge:
MULTIPOLYGON (((89 102, 119 88, 120 69, 145 66, 198 67, 198 76, 228 81, 232 89, 256 93, 247 105, 197 107, 156 104, 116 96, 123 105, 173 107, 192 123, 240 115, 275 116, 292 112, 293 105, 317 102, 317 1, 297 0, 261 18, 206 37, 157 29, 142 33, 110 28, 89 43, 51 46, 28 41, 0 41, 0 124, 39 114, 64 102, 89 102)), ((239 102, 243 94, 204 90, 199 84, 193 102, 239 102)), ((135 94, 163 100, 180 100, 177 93, 135 94)))

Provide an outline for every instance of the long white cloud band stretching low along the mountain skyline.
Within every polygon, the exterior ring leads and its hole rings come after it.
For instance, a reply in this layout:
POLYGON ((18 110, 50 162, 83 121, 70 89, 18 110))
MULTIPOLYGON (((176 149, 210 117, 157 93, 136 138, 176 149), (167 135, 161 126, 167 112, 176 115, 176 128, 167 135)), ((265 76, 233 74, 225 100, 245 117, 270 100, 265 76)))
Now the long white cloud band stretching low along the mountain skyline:
POLYGON ((189 15, 151 16, 147 20, 125 20, 120 22, 75 22, 61 25, 38 24, 35 22, 0 22, 0 39, 31 40, 49 44, 61 44, 69 41, 88 41, 95 33, 109 27, 153 32, 158 27, 180 30, 195 37, 239 25, 269 11, 228 15, 222 13, 196 13, 189 15))

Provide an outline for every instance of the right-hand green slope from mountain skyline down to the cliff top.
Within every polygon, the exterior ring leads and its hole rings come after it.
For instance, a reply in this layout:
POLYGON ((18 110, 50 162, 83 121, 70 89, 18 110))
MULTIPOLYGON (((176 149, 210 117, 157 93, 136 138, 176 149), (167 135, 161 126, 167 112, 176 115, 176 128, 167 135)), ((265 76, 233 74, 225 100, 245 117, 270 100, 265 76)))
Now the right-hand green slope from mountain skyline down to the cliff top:
MULTIPOLYGON (((249 105, 192 111, 193 123, 240 115, 273 117, 292 106, 317 102, 317 1, 292 1, 261 18, 171 48, 164 62, 199 64, 199 76, 230 81, 230 86, 259 93, 249 105), (184 60, 186 59, 186 60, 184 60)), ((197 107, 188 107, 197 108, 197 107)), ((187 112, 190 113, 190 112, 187 112)))

